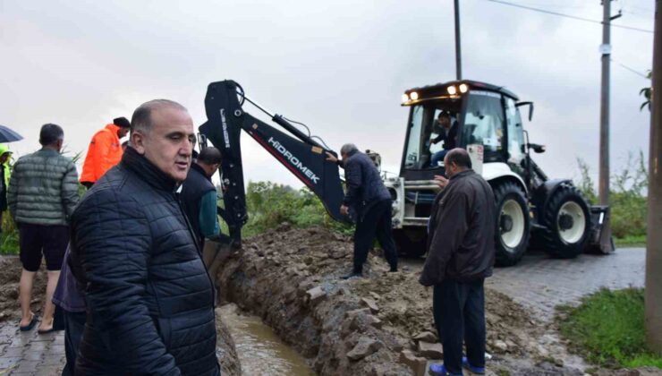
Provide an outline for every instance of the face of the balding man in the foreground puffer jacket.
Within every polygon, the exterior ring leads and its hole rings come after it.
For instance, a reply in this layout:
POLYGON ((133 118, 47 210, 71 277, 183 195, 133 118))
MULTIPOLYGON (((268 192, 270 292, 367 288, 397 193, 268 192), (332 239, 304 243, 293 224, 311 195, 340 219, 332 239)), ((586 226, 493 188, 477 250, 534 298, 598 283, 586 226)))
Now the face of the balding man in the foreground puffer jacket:
POLYGON ((184 181, 195 143, 191 115, 174 107, 157 107, 151 112, 151 120, 149 132, 132 133, 132 145, 166 175, 184 181))

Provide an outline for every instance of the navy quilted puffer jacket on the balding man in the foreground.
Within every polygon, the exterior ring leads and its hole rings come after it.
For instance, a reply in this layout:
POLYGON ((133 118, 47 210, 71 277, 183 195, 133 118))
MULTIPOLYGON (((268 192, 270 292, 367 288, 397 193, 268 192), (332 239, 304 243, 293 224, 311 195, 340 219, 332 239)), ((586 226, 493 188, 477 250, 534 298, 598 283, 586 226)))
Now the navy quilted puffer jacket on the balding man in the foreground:
POLYGON ((214 291, 175 182, 128 148, 72 215, 76 374, 216 375, 214 291))

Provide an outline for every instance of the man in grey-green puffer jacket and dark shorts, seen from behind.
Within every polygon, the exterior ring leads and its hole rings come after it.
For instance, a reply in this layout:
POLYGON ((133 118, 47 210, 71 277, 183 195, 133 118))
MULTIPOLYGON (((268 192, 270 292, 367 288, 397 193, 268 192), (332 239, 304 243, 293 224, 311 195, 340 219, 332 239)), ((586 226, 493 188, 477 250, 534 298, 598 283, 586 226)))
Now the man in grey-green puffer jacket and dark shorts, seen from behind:
POLYGON ((19 287, 20 329, 23 331, 37 323, 37 317, 30 311, 30 299, 42 254, 46 259, 47 296, 40 334, 53 330, 55 307, 51 298, 69 243, 69 217, 78 202, 78 173, 72 159, 60 154, 63 141, 64 131, 59 125, 43 125, 39 132, 42 149, 16 161, 7 192, 9 212, 19 228, 23 265, 19 287))

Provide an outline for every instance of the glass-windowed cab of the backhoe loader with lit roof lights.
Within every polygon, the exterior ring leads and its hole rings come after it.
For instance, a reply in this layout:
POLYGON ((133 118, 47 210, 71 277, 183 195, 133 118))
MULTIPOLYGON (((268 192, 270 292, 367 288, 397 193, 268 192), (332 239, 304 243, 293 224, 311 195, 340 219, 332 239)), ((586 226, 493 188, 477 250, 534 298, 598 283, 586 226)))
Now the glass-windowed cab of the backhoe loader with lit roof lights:
POLYGON ((518 98, 510 91, 478 81, 451 81, 407 90, 403 106, 411 107, 400 175, 405 180, 429 180, 444 173, 442 150, 479 146, 482 162, 522 167, 525 157, 518 98), (439 115, 450 115, 451 129, 439 126, 439 115), (455 129, 453 129, 455 128, 455 129), (438 137, 440 132, 444 136, 438 137), (454 140, 448 140, 448 136, 454 140), (446 138, 445 141, 434 141, 446 138), (446 145, 445 145, 446 144, 446 145))

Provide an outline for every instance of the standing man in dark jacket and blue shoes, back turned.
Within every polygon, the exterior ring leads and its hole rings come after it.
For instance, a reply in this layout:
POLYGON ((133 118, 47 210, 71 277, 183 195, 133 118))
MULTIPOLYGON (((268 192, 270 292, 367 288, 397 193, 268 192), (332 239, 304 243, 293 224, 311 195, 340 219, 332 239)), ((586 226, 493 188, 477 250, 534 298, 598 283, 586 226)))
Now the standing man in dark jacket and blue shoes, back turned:
POLYGON ((448 181, 437 195, 430 216, 428 258, 420 284, 434 286, 433 311, 444 346, 444 364, 436 375, 462 375, 462 368, 485 372, 485 295, 483 282, 495 260, 495 202, 489 184, 471 170, 466 150, 444 159, 448 181), (463 359, 463 341, 467 357, 463 359))

